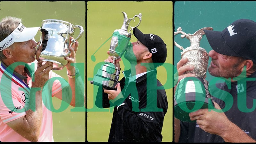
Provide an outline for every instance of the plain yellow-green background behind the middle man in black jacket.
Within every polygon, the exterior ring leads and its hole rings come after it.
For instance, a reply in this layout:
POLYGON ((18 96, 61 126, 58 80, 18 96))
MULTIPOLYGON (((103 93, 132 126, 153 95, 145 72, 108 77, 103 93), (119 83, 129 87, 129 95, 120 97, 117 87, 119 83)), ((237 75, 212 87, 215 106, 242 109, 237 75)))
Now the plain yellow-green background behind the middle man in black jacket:
MULTIPOLYGON (((108 58, 107 51, 111 39, 108 41, 107 39, 112 36, 115 29, 121 28, 124 21, 122 12, 125 12, 128 18, 141 13, 142 20, 138 28, 145 34, 156 34, 164 40, 167 45, 166 63, 171 65, 172 2, 88 2, 87 9, 87 140, 89 142, 106 142, 108 141, 113 108, 97 109, 94 106, 98 86, 89 82, 95 74, 94 71, 99 69, 96 66, 108 58), (104 45, 98 50, 102 44, 104 45), (95 61, 91 59, 92 55, 95 57, 95 61)), ((135 24, 131 22, 129 28, 136 26, 137 22, 138 19, 134 22, 135 24)), ((132 35, 131 42, 134 41, 137 39, 132 35)), ((120 62, 122 70, 129 68, 129 65, 124 66, 124 61, 125 59, 122 57, 120 62)), ((167 73, 172 76, 172 71, 167 72, 163 66, 157 68, 157 71, 157 78, 163 85, 167 81, 167 73)), ((122 77, 121 73, 119 79, 122 77)), ((168 81, 172 82, 170 77, 168 77, 168 81)), ((165 87, 169 107, 164 117, 163 142, 172 141, 172 88, 170 87, 170 85, 165 87)))

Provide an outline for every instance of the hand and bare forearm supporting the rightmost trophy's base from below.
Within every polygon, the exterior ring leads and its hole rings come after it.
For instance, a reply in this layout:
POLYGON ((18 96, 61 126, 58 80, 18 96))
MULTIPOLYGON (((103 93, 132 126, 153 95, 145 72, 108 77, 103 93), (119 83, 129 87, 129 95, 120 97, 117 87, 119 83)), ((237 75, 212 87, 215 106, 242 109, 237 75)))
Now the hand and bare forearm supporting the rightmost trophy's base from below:
POLYGON ((227 116, 221 112, 221 108, 217 103, 214 102, 214 105, 218 112, 214 110, 209 111, 208 109, 199 109, 189 114, 190 120, 196 120, 196 123, 202 130, 219 135, 226 142, 256 142, 236 124, 229 121, 227 116))

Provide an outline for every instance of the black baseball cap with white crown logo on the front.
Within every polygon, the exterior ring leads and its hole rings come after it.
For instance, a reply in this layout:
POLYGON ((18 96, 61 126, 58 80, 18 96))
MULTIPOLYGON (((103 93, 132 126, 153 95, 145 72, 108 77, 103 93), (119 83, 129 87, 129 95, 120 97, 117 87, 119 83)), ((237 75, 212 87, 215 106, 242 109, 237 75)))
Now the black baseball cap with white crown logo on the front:
POLYGON ((204 30, 204 33, 214 51, 256 63, 256 22, 240 19, 222 31, 204 30))

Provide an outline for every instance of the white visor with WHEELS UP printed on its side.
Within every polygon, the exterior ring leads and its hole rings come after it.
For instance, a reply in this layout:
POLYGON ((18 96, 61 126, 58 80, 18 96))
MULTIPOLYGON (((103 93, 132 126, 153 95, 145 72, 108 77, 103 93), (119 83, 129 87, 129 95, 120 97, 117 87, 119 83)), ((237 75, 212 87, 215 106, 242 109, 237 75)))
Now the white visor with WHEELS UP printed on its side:
POLYGON ((13 43, 26 42, 33 39, 40 27, 26 28, 22 23, 14 31, 0 42, 0 51, 3 51, 13 43))

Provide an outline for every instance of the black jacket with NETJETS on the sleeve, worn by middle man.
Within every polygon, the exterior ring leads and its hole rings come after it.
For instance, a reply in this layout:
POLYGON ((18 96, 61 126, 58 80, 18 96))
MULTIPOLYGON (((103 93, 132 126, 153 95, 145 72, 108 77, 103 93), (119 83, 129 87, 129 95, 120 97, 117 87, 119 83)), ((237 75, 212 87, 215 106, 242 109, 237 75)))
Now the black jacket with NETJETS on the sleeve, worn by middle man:
MULTIPOLYGON (((126 77, 131 71, 123 73, 126 77)), ((97 93, 97 107, 115 106, 108 142, 161 142, 168 103, 164 87, 156 79, 156 70, 129 84, 129 77, 125 77, 120 81, 123 99, 113 104, 102 87, 97 93)))

